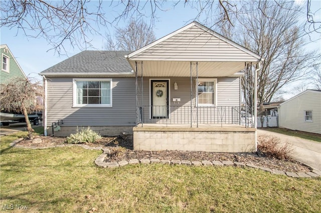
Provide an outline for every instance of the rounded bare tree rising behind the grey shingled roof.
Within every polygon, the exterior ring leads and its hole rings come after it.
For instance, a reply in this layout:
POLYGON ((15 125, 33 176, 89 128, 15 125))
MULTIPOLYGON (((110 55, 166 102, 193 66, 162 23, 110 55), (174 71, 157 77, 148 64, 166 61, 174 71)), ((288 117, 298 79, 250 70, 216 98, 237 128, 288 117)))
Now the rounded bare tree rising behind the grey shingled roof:
POLYGON ((142 19, 131 19, 125 27, 116 27, 114 39, 109 35, 106 36, 105 47, 108 50, 136 50, 156 38, 152 28, 142 19))

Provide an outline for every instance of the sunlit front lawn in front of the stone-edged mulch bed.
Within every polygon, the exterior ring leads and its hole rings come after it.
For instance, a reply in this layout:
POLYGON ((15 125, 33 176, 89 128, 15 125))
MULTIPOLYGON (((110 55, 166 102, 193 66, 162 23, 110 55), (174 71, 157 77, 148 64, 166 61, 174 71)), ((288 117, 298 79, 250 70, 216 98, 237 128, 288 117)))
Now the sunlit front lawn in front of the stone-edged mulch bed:
POLYGON ((321 178, 236 167, 101 168, 94 164, 99 150, 10 148, 16 138, 1 137, 2 209, 28 205, 30 212, 321 211, 321 178))

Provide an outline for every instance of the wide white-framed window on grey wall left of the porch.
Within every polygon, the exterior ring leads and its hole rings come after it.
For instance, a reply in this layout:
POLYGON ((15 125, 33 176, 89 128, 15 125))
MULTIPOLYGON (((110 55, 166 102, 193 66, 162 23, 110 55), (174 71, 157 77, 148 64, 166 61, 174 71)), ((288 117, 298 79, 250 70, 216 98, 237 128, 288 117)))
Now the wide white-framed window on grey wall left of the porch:
POLYGON ((112 106, 111 79, 74 79, 74 106, 112 106))

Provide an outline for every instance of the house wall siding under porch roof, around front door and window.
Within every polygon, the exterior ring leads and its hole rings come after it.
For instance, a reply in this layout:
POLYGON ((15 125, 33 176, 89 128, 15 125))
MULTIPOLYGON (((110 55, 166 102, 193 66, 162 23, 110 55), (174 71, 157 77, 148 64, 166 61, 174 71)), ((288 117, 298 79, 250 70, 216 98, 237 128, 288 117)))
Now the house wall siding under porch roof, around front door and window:
MULTIPOLYGON (((208 77, 215 78, 215 77, 208 77)), ((150 79, 170 79, 170 105, 171 105, 171 118, 177 119, 177 121, 189 123, 191 120, 191 79, 189 77, 143 77, 143 102, 144 112, 143 118, 149 122, 150 111, 146 107, 151 104, 150 101, 150 79), (178 84, 178 89, 174 89, 174 83, 178 84), (173 101, 173 98, 181 98, 179 103, 173 101)), ((193 79, 193 112, 192 120, 196 122, 197 109, 195 107, 195 95, 196 95, 196 83, 193 79)), ((141 101, 139 99, 139 103, 141 101)), ((240 105, 240 77, 217 77, 217 106, 228 106, 231 109, 232 106, 240 105)), ((212 108, 213 109, 213 108, 212 108)), ((217 108, 215 109, 217 110, 217 108)), ((216 112, 211 111, 209 107, 199 107, 199 122, 218 121, 219 115, 216 112)), ((231 119, 231 112, 226 111, 224 113, 224 119, 231 119)), ((165 122, 161 120, 160 122, 165 122)), ((211 123, 213 123, 211 122, 211 123)))

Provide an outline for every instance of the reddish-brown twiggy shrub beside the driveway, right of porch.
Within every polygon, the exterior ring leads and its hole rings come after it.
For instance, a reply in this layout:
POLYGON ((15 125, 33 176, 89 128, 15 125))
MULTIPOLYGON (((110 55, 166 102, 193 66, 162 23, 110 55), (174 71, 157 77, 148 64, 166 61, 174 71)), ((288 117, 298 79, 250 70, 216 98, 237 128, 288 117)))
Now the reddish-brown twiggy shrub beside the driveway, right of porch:
POLYGON ((257 138, 257 148, 267 155, 277 159, 291 159, 293 146, 285 141, 281 143, 278 137, 259 135, 257 138))

